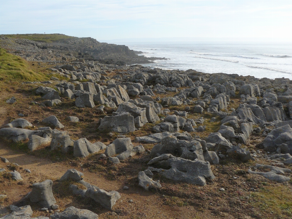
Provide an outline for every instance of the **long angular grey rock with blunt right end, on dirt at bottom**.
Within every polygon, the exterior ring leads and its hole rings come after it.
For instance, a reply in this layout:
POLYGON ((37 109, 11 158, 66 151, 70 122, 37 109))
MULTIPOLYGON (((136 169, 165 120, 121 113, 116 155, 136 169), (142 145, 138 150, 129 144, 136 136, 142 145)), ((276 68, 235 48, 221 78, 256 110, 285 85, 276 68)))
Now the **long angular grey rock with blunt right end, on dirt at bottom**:
POLYGON ((116 201, 121 198, 120 193, 116 191, 106 192, 103 189, 96 189, 94 187, 86 190, 86 197, 92 198, 96 202, 100 203, 101 206, 111 210, 116 204, 116 201))

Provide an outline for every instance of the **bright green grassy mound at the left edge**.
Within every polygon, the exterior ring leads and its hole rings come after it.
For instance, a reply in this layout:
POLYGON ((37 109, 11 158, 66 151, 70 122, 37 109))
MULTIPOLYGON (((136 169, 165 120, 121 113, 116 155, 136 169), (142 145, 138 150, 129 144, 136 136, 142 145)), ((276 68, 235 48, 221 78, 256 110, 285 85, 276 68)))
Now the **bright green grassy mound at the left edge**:
POLYGON ((0 83, 12 81, 43 81, 47 76, 34 71, 23 58, 0 48, 0 83))

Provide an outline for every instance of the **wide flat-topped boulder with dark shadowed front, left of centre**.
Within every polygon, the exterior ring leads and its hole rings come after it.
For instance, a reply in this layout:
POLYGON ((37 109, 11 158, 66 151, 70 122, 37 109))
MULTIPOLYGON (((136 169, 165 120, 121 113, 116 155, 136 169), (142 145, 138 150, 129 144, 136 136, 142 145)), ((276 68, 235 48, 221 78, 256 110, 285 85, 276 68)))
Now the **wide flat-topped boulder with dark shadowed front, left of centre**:
POLYGON ((135 131, 134 116, 124 112, 118 113, 115 116, 105 116, 98 129, 119 133, 133 132, 135 131))

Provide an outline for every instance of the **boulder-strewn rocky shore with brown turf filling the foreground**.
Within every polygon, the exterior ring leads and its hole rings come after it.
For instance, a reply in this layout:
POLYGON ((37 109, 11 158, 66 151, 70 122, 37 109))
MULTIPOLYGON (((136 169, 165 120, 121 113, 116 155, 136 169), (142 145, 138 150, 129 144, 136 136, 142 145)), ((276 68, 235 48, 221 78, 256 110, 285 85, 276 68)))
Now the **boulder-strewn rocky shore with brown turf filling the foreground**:
POLYGON ((96 43, 78 38, 64 48, 1 38, 48 72, 43 81, 20 82, 14 96, 2 95, 3 218, 292 215, 291 80, 129 66, 123 62, 137 57, 127 47, 93 46, 85 55, 81 39, 96 43), (65 50, 72 55, 57 56, 65 50), (97 60, 108 57, 116 58, 97 60), (55 176, 30 175, 29 160, 9 162, 16 159, 10 144, 62 168, 55 176), (110 186, 102 183, 109 177, 110 186), (30 191, 9 197, 10 184, 30 191), (286 208, 271 193, 285 195, 286 208))

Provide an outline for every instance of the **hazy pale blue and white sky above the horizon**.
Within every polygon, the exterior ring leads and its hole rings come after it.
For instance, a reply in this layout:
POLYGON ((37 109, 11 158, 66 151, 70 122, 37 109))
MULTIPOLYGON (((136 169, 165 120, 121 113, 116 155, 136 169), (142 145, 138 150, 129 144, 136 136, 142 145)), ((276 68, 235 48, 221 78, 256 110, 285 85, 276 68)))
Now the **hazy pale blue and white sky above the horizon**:
POLYGON ((0 33, 292 41, 292 0, 0 0, 0 33))

